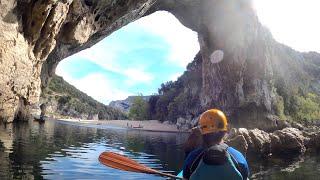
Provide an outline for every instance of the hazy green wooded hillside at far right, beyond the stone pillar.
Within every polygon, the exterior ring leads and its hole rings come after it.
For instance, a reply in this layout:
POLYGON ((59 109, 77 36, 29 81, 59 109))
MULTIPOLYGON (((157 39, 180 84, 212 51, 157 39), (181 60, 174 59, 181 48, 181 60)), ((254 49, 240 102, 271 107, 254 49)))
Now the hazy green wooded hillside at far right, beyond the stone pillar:
POLYGON ((287 63, 291 71, 279 66, 280 73, 274 76, 277 94, 275 113, 281 119, 320 120, 320 54, 285 49, 291 57, 287 63))

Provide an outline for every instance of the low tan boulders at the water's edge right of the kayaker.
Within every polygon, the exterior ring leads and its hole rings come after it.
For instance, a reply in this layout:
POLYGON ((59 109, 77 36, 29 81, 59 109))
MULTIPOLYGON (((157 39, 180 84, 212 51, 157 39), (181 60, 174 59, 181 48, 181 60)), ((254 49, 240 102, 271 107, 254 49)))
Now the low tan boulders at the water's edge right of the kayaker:
POLYGON ((319 143, 319 131, 312 135, 304 135, 296 128, 284 128, 267 133, 259 129, 232 129, 227 144, 236 147, 244 154, 270 155, 299 155, 307 148, 316 149, 310 143, 319 143), (310 145, 310 146, 308 146, 310 145))

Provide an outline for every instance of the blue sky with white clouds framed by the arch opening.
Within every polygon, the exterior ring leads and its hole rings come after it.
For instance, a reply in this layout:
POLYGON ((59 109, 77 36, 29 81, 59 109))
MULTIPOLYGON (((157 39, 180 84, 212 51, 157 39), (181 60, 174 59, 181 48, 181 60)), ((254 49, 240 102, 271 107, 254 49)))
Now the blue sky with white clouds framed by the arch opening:
POLYGON ((198 51, 195 32, 173 15, 157 12, 66 58, 56 73, 108 104, 129 95, 157 93, 161 83, 185 71, 198 51))

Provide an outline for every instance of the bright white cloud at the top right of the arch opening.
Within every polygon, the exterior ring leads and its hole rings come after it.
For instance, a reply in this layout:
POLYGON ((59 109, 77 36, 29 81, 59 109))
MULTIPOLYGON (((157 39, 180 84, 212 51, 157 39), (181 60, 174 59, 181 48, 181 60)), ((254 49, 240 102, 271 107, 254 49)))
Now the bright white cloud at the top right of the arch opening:
POLYGON ((200 50, 197 33, 183 26, 172 14, 158 11, 133 24, 164 38, 170 45, 169 60, 186 67, 200 50))

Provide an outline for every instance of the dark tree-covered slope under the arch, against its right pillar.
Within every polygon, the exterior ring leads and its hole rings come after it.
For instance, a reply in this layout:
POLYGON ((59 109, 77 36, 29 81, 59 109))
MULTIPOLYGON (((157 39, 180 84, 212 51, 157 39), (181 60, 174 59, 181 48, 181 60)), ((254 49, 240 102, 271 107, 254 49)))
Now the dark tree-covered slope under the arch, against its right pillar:
POLYGON ((197 54, 187 70, 177 81, 161 84, 159 95, 149 99, 152 119, 176 122, 180 116, 197 115, 201 112, 199 94, 202 87, 202 59, 197 54))

